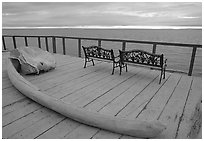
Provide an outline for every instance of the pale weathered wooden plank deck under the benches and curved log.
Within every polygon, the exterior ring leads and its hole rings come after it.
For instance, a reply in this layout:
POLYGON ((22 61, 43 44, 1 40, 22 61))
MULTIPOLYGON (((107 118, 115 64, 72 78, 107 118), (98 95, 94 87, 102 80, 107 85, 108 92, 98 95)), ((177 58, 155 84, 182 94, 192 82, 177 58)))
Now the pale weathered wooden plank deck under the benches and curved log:
MULTIPOLYGON (((2 138, 134 138, 87 126, 26 98, 9 81, 2 53, 2 138)), ((158 119, 167 129, 157 138, 202 138, 201 77, 128 66, 111 75, 112 64, 56 55, 57 68, 25 78, 47 94, 94 112, 129 119, 158 119)))

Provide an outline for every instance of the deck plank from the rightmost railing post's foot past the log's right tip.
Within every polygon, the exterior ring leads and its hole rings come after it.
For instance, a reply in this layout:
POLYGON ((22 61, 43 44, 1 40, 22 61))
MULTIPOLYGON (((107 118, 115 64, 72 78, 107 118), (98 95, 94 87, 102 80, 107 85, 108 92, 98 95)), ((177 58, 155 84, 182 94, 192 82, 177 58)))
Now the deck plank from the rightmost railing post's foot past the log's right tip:
POLYGON ((167 137, 169 139, 173 139, 176 137, 177 128, 180 118, 182 117, 182 111, 190 91, 191 81, 192 77, 182 76, 172 97, 169 99, 159 117, 159 120, 167 125, 167 129, 157 138, 167 137))

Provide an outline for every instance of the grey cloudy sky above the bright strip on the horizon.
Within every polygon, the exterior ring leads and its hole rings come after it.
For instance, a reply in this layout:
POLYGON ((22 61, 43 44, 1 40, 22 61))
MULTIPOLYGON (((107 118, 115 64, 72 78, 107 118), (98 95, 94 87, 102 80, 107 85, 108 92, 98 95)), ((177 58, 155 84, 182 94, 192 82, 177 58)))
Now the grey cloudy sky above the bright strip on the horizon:
POLYGON ((2 26, 201 26, 202 3, 3 2, 2 26))

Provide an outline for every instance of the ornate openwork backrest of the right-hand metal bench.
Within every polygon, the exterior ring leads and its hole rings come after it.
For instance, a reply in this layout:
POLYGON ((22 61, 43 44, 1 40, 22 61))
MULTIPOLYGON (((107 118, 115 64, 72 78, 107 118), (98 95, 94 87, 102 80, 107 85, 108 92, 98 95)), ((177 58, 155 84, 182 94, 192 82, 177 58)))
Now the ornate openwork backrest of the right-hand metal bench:
POLYGON ((155 67, 163 66, 163 54, 152 54, 143 50, 119 50, 119 52, 121 62, 129 62, 155 67))

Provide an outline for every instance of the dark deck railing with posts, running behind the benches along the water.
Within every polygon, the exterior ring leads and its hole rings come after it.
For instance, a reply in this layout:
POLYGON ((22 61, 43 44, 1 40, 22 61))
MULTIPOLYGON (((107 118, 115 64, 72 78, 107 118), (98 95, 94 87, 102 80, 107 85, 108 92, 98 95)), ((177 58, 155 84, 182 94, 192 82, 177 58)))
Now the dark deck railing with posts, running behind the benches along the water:
POLYGON ((53 53, 57 52, 56 49, 56 39, 61 39, 62 47, 63 47, 63 54, 66 55, 66 39, 75 39, 78 40, 78 56, 81 57, 81 42, 82 40, 94 40, 98 42, 98 46, 101 46, 102 41, 110 41, 110 42, 120 42, 122 43, 121 49, 126 49, 127 43, 140 43, 140 44, 150 44, 152 45, 152 53, 156 53, 157 45, 164 45, 164 46, 178 46, 178 47, 187 47, 192 48, 191 60, 188 75, 191 76, 193 72, 194 60, 197 48, 202 48, 202 45, 199 44, 183 44, 183 43, 168 43, 168 42, 155 42, 155 41, 136 41, 136 40, 122 40, 122 39, 103 39, 103 38, 83 38, 83 37, 67 37, 67 36, 19 36, 19 35, 2 35, 2 44, 3 50, 7 50, 5 38, 12 38, 14 48, 17 48, 16 45, 16 38, 24 38, 25 46, 28 46, 28 38, 37 38, 38 46, 41 48, 41 39, 45 40, 46 50, 49 51, 48 46, 48 38, 52 40, 52 47, 53 53))

